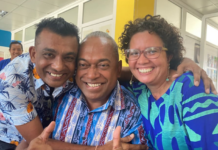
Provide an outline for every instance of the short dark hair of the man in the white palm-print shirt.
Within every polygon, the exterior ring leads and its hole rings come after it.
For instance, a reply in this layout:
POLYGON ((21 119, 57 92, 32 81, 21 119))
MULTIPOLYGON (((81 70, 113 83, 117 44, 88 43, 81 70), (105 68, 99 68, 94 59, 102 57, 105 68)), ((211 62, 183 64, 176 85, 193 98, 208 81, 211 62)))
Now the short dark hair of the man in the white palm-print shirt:
POLYGON ((63 18, 45 18, 36 24, 35 39, 43 29, 48 29, 61 36, 76 37, 79 45, 78 28, 72 23, 66 22, 63 18))

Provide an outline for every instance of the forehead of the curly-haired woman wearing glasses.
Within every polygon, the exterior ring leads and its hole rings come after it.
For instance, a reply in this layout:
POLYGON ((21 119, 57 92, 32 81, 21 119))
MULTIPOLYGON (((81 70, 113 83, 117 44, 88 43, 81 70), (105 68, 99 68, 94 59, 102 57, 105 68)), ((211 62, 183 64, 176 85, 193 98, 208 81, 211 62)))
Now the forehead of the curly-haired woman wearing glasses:
POLYGON ((129 46, 130 48, 163 46, 163 41, 156 33, 149 33, 148 31, 143 31, 138 32, 132 36, 129 46))

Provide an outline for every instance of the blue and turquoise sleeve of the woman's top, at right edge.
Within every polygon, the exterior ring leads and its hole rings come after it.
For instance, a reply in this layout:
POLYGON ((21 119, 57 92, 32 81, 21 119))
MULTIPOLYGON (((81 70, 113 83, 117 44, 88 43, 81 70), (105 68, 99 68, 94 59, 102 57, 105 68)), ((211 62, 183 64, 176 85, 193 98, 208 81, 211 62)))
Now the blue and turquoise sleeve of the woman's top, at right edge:
POLYGON ((218 149, 218 97, 204 92, 203 81, 193 76, 183 85, 182 113, 191 149, 218 149))

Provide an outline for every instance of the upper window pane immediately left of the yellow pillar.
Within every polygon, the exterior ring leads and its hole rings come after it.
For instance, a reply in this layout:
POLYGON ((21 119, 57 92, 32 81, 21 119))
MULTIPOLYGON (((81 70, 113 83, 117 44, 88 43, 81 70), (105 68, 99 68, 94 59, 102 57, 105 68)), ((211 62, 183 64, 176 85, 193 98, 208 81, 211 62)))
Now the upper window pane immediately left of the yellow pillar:
POLYGON ((113 3, 114 0, 91 0, 84 3, 83 23, 112 15, 113 3))

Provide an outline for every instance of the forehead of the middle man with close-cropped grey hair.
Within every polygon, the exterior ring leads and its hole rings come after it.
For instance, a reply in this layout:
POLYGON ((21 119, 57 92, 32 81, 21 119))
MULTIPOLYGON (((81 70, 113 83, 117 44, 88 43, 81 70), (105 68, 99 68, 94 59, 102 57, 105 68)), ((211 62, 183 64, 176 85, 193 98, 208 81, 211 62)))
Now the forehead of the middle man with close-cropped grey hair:
POLYGON ((103 37, 91 37, 82 43, 79 58, 86 60, 115 60, 112 43, 103 37))

